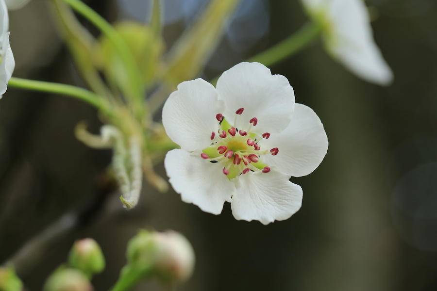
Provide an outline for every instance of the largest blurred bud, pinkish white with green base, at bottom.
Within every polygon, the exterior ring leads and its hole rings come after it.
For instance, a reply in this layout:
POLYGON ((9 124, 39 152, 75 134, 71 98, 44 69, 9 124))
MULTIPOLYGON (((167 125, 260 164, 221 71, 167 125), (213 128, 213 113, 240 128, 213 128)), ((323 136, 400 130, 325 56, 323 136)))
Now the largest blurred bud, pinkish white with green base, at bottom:
POLYGON ((164 280, 185 281, 193 273, 193 247, 175 231, 140 231, 129 242, 127 256, 131 265, 150 265, 151 272, 164 280))

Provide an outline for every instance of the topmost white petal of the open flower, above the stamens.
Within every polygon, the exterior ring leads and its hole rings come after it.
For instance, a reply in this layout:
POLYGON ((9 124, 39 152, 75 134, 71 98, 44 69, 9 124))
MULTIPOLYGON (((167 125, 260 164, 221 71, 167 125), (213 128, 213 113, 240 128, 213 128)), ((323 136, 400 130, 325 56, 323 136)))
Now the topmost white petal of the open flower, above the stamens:
POLYGON ((252 117, 257 133, 278 132, 290 122, 294 109, 293 88, 286 77, 271 75, 260 63, 240 63, 225 71, 217 81, 219 98, 225 101, 225 116, 234 122, 235 111, 243 107, 236 127, 246 129, 252 117))

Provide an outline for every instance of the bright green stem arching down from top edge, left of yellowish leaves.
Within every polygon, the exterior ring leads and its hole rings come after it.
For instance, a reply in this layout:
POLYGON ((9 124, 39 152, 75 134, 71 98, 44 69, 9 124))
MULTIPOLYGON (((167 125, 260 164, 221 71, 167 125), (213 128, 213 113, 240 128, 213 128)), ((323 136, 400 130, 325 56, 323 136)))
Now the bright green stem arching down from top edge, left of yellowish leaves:
POLYGON ((128 92, 127 97, 131 99, 133 103, 131 105, 134 106, 135 112, 142 112, 144 107, 142 102, 144 85, 140 79, 141 74, 139 68, 136 65, 134 57, 132 56, 132 52, 130 51, 124 39, 120 36, 120 34, 118 34, 111 24, 109 24, 103 17, 97 14, 82 1, 64 0, 64 2, 70 5, 71 8, 73 8, 76 12, 88 19, 98 29, 100 29, 101 32, 105 34, 106 37, 108 37, 108 39, 112 42, 115 49, 117 49, 123 64, 126 66, 125 69, 129 76, 129 80, 132 82, 132 88, 130 89, 131 92, 128 92))

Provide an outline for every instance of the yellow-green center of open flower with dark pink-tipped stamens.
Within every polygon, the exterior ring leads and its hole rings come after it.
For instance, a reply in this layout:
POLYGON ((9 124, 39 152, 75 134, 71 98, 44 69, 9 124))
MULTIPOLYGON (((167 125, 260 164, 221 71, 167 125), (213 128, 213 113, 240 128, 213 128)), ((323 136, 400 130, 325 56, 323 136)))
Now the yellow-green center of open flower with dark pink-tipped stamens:
POLYGON ((270 137, 269 132, 261 136, 252 132, 252 127, 258 124, 258 119, 253 117, 246 127, 237 128, 238 116, 244 113, 244 108, 235 111, 234 126, 232 126, 222 113, 216 114, 218 131, 211 132, 211 145, 204 148, 201 158, 209 162, 220 162, 223 165, 222 173, 229 179, 244 175, 250 171, 269 173, 270 167, 261 161, 263 155, 277 155, 277 147, 270 150, 261 150, 263 139, 270 137))

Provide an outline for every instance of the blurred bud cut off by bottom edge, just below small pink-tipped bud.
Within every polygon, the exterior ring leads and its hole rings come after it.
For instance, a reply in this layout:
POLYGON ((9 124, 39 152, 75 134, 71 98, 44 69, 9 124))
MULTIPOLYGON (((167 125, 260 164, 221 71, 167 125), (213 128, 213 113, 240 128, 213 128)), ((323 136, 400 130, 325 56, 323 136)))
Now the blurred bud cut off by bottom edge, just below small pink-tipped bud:
POLYGON ((47 279, 44 291, 92 291, 88 278, 79 270, 59 268, 47 279))

